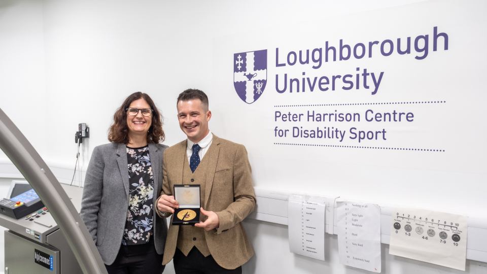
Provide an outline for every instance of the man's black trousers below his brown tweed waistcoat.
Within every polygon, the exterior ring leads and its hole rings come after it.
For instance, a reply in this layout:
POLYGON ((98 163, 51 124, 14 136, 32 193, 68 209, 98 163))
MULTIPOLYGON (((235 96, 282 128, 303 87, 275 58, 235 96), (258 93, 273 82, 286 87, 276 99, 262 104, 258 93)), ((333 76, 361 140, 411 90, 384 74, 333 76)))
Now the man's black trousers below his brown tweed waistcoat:
POLYGON ((204 257, 196 247, 193 247, 188 256, 176 248, 173 258, 176 274, 241 274, 242 267, 225 269, 218 265, 213 256, 204 257))

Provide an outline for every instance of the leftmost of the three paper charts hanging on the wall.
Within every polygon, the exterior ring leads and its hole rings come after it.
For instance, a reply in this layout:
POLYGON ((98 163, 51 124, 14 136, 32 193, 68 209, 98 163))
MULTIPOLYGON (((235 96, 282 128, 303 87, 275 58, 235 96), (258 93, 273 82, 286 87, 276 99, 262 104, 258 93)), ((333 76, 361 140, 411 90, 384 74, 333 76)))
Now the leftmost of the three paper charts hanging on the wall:
POLYGON ((289 250, 293 253, 325 260, 326 198, 289 195, 289 250))

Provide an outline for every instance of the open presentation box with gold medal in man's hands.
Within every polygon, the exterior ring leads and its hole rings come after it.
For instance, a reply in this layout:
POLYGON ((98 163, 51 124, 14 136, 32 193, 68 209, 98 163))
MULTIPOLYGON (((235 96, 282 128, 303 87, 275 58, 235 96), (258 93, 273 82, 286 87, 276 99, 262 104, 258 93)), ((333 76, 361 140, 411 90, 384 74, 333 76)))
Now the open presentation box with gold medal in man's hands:
POLYGON ((199 223, 200 185, 174 185, 174 198, 179 208, 172 214, 173 225, 194 225, 199 223))

